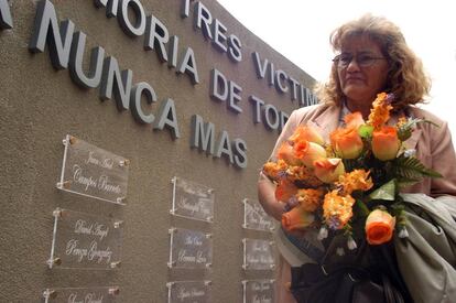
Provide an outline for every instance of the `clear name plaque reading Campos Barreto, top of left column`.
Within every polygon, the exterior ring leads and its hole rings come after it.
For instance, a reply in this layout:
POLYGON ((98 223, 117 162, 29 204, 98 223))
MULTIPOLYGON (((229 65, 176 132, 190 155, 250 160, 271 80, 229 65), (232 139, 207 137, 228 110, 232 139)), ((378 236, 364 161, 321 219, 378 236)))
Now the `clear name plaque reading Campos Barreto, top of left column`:
POLYGON ((129 160, 69 134, 63 142, 65 152, 57 188, 126 204, 129 160))

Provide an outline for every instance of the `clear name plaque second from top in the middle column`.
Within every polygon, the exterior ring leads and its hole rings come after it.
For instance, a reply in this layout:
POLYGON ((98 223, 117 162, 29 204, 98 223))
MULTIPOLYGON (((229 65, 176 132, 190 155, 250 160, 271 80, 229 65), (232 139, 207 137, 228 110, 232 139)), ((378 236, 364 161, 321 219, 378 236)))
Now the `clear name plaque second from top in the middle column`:
POLYGON ((213 263, 210 234, 184 228, 170 229, 169 268, 205 269, 213 263))

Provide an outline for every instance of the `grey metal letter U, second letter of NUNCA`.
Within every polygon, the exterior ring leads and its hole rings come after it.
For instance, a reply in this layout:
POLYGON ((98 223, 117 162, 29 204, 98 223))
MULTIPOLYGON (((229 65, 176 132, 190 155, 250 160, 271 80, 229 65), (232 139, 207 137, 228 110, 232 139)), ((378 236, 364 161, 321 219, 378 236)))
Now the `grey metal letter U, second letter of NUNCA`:
POLYGON ((95 88, 100 85, 105 50, 99 46, 91 50, 89 74, 86 76, 83 71, 86 39, 87 35, 83 32, 76 32, 73 35, 72 52, 69 53, 69 76, 80 87, 95 88))

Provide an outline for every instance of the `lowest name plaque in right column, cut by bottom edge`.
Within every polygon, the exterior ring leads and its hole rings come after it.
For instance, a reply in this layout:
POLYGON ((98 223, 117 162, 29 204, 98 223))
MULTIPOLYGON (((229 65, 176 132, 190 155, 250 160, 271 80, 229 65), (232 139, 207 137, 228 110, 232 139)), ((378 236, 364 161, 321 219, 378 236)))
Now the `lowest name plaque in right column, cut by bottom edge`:
POLYGON ((245 280, 243 303, 274 303, 274 280, 245 280))

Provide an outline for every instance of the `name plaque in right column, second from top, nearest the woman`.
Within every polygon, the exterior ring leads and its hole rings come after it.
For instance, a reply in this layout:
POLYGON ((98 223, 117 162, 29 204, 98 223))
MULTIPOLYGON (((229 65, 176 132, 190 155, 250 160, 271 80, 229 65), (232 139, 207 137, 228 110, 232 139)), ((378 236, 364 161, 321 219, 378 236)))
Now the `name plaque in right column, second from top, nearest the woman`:
POLYGON ((273 241, 242 239, 245 270, 273 270, 275 268, 273 241))

